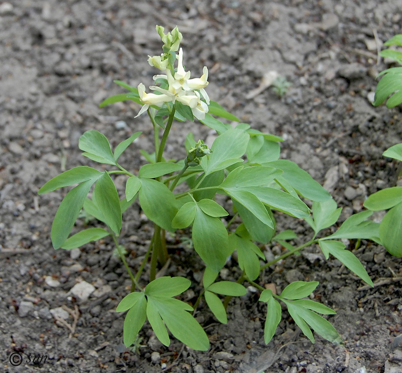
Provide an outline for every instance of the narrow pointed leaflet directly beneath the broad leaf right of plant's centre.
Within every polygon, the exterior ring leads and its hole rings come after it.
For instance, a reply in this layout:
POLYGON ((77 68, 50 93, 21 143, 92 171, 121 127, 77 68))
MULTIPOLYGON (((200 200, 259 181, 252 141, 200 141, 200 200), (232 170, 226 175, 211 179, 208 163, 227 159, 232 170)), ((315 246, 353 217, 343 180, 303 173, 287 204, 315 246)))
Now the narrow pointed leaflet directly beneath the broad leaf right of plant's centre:
POLYGON ((248 190, 254 194, 263 204, 290 216, 296 218, 308 218, 310 216, 309 208, 300 198, 293 197, 282 190, 258 186, 243 188, 243 190, 248 190))

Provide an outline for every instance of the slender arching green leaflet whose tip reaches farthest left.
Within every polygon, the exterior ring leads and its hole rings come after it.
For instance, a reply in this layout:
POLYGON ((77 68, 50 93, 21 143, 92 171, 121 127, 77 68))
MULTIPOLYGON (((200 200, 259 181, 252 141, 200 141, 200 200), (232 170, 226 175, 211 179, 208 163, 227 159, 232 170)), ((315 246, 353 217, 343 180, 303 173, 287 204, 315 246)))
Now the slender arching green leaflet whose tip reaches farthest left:
POLYGON ((38 194, 52 192, 58 188, 82 183, 83 181, 87 180, 92 180, 92 183, 94 183, 102 175, 103 172, 100 172, 92 167, 74 167, 49 180, 41 189, 39 189, 38 194))

